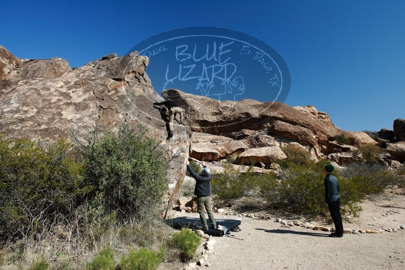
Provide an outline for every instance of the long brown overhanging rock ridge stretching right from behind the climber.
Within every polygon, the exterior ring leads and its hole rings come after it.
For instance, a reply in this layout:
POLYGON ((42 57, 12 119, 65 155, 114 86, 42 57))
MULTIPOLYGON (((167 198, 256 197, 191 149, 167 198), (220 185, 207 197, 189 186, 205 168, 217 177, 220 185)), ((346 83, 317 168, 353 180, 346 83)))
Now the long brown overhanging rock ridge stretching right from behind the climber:
POLYGON ((313 106, 292 108, 282 103, 252 100, 219 102, 177 89, 167 89, 162 96, 185 109, 188 123, 196 132, 238 140, 262 134, 307 146, 317 156, 330 154, 329 141, 339 134, 351 138, 355 146, 376 143, 366 133, 339 129, 326 113, 313 106))

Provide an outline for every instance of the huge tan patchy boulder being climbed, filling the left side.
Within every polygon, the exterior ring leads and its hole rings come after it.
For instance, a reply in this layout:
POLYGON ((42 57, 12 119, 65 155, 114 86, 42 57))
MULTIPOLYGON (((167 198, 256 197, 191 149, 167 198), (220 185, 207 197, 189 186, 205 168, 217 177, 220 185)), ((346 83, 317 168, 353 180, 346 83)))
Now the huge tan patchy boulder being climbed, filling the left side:
POLYGON ((103 133, 116 131, 122 123, 143 124, 164 149, 168 202, 173 204, 186 173, 191 130, 174 125, 174 137, 166 140, 167 115, 153 107, 163 98, 145 72, 147 57, 137 52, 110 55, 72 69, 58 58, 19 61, 10 55, 0 48, 0 63, 9 63, 0 69, 5 76, 0 83, 0 131, 6 137, 54 141, 77 131, 83 139, 96 127, 103 133))

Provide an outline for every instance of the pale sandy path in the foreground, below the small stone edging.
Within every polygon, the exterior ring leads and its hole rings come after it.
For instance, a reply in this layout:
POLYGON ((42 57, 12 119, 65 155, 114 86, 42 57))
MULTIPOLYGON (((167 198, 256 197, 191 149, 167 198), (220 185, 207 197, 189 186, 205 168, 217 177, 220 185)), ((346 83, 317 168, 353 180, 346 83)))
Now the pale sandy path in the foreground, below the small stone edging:
POLYGON ((405 231, 345 235, 242 218, 239 239, 217 240, 213 269, 404 269, 405 231), (392 256, 390 258, 389 256, 392 256), (401 259, 397 259, 397 257, 401 259))

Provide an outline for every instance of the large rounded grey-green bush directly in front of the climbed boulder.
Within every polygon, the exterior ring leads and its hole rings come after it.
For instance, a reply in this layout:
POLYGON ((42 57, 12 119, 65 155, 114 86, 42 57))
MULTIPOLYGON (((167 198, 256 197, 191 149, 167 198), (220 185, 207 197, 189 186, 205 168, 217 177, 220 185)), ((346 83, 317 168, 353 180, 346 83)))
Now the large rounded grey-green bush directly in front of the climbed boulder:
POLYGON ((118 218, 154 214, 167 190, 166 163, 159 142, 146 129, 122 125, 88 147, 84 163, 89 181, 97 187, 96 202, 118 218))

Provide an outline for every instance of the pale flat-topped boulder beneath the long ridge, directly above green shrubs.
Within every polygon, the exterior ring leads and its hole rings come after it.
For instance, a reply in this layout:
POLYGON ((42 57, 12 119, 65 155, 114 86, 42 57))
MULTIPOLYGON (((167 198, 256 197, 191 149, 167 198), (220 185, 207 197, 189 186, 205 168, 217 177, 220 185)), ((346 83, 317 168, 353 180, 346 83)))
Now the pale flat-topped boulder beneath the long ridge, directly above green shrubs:
POLYGON ((280 147, 268 146, 246 150, 238 156, 236 163, 248 165, 254 161, 255 163, 263 162, 264 164, 270 164, 274 161, 285 158, 287 158, 287 156, 283 153, 280 147))

